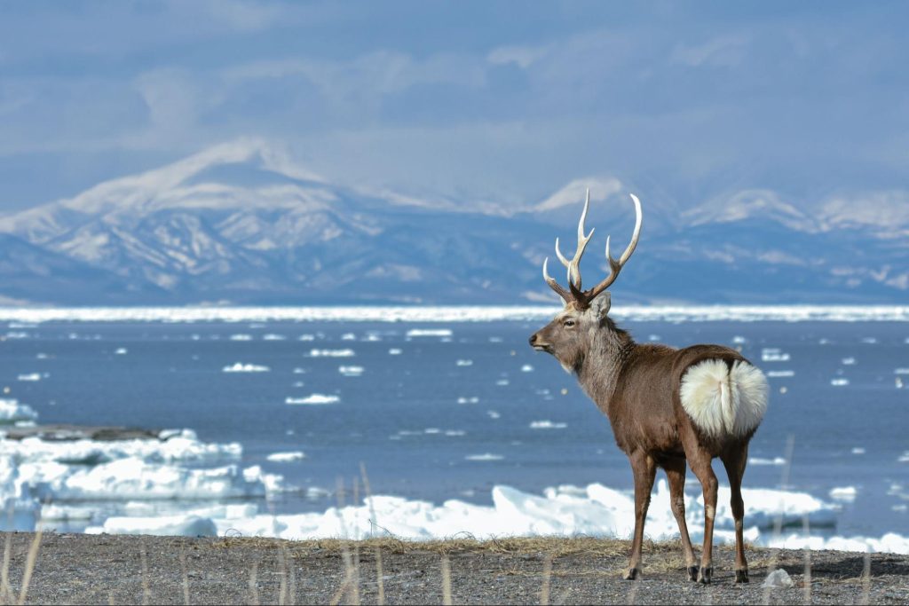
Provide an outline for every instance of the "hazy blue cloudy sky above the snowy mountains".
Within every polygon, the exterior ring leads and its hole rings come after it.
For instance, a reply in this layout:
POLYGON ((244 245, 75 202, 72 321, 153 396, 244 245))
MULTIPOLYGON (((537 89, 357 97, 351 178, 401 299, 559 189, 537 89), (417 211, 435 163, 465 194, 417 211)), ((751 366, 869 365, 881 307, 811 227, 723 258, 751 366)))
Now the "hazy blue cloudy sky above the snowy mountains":
MULTIPOLYGON (((0 3, 0 211, 240 136, 325 177, 683 206, 909 183, 905 3, 0 3)), ((807 203, 805 203, 807 204, 807 203)))

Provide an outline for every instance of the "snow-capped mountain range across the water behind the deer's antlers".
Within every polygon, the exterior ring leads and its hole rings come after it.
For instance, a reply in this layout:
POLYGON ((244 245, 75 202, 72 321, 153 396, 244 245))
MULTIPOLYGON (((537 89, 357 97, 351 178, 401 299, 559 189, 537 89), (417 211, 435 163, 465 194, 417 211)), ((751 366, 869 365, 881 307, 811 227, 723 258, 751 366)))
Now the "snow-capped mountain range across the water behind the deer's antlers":
POLYGON ((509 211, 329 183, 242 139, 0 217, 0 303, 550 302, 540 266, 555 236, 574 245, 587 187, 592 275, 605 271, 606 233, 616 247, 631 233, 626 194, 644 200, 620 281, 629 303, 902 302, 909 291, 903 192, 807 205, 748 190, 683 211, 590 177, 509 211))

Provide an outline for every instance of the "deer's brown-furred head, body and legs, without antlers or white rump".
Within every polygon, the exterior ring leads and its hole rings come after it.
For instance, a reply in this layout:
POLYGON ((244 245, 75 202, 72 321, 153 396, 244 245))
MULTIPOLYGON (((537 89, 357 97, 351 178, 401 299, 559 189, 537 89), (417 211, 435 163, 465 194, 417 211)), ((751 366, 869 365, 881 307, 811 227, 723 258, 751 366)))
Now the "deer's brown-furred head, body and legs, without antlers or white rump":
POLYGON ((634 343, 631 335, 606 315, 609 305, 608 292, 593 301, 568 301, 562 313, 531 336, 530 343, 538 351, 552 353, 566 370, 577 376, 584 392, 609 418, 615 442, 631 462, 635 524, 632 556, 625 578, 636 578, 640 570, 644 519, 654 473, 660 467, 669 480, 673 513, 679 524, 689 575, 694 581, 696 572, 698 581, 710 582, 717 488, 711 461, 720 457, 733 493, 736 581, 747 581, 741 482, 748 442, 754 431, 744 436, 707 436, 691 421, 679 397, 682 376, 692 365, 704 360, 724 360, 731 367, 734 362, 745 359, 722 345, 674 349, 666 345, 634 343), (700 570, 694 565, 694 550, 684 522, 686 462, 704 490, 706 515, 700 570))

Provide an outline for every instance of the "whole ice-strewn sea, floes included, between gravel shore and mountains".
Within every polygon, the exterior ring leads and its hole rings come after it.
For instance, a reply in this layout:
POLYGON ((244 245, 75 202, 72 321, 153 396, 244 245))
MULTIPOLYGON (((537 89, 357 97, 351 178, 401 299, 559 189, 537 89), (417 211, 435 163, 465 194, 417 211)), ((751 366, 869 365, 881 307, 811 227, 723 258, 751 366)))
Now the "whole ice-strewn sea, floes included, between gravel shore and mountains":
MULTIPOLYGON (((0 503, 18 502, 25 520, 23 489, 50 497, 44 524, 62 530, 309 536, 341 531, 331 513, 340 482, 345 531, 362 533, 367 508, 350 505, 363 462, 386 497, 379 523, 402 536, 627 531, 632 474, 608 422, 574 377, 527 345, 556 310, 364 309, 373 311, 0 310, 0 432, 35 419, 192 431, 133 451, 4 441, 0 503), (136 470, 155 488, 130 482, 136 470)), ((612 315, 638 342, 725 343, 768 374, 770 407, 744 481, 752 540, 903 544, 909 308, 612 315), (792 526, 774 538, 767 521, 783 511, 792 526)), ((686 492, 696 534, 691 473, 686 492)), ((654 496, 654 537, 673 532, 662 506, 654 496)))

